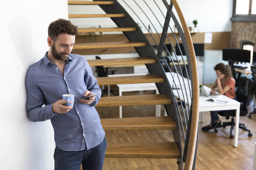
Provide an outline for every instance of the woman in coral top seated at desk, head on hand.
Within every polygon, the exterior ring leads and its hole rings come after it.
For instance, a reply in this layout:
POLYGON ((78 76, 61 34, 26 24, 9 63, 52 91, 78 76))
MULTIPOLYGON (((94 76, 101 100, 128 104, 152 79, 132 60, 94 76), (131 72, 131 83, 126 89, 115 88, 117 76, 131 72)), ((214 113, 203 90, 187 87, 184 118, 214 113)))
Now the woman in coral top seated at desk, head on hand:
MULTIPOLYGON (((215 88, 218 87, 219 94, 230 97, 236 100, 235 84, 236 81, 232 76, 231 68, 229 65, 219 63, 214 66, 214 70, 217 75, 217 79, 211 88, 211 94, 215 94, 215 88)), ((221 111, 211 111, 211 123, 202 128, 203 131, 209 131, 221 124, 218 112, 221 111)))

